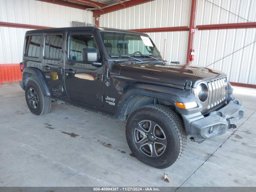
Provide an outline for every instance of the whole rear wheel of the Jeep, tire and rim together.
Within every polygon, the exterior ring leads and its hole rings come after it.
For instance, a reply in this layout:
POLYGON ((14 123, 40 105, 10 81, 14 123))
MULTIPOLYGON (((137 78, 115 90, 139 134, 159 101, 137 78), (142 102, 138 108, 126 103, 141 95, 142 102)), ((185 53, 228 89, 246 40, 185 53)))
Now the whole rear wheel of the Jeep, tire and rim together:
POLYGON ((44 95, 37 81, 28 81, 25 96, 28 108, 33 114, 44 115, 50 111, 51 97, 44 95))

